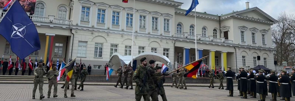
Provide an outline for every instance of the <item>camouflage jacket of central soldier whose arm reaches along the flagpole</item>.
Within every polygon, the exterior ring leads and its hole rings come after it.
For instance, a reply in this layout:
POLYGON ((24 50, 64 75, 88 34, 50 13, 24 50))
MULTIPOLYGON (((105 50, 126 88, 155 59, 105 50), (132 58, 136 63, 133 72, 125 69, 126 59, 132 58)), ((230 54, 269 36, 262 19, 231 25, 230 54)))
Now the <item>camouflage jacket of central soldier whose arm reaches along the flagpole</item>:
POLYGON ((147 66, 148 70, 150 72, 150 78, 148 79, 148 85, 150 90, 156 90, 156 76, 162 76, 163 74, 161 72, 156 72, 156 69, 153 67, 147 66))

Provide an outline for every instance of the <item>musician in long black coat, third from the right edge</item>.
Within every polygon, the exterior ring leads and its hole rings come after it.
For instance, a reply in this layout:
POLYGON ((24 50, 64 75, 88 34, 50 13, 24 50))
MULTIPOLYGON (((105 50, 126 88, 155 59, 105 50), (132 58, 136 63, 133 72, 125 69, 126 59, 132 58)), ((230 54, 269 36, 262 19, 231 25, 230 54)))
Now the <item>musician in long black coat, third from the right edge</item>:
POLYGON ((266 80, 269 80, 269 85, 268 85, 268 92, 271 93, 271 101, 277 101, 277 89, 276 89, 276 84, 278 77, 274 74, 274 70, 271 70, 271 75, 269 75, 266 80))

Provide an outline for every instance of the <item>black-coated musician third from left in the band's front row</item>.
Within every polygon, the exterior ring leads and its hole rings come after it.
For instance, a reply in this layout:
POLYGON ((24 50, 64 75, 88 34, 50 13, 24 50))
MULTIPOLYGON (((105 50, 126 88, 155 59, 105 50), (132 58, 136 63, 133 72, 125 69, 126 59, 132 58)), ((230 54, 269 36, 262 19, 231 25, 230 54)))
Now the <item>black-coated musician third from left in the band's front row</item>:
MULTIPOLYGON (((251 91, 251 95, 252 95, 251 98, 256 98, 256 94, 257 94, 256 91, 257 91, 257 88, 258 87, 256 87, 256 81, 254 79, 255 75, 254 75, 253 70, 254 70, 254 68, 251 68, 251 72, 250 72, 250 75, 249 75, 249 79, 250 79, 250 91, 251 91)), ((249 95, 249 96, 251 96, 251 95, 249 95)))

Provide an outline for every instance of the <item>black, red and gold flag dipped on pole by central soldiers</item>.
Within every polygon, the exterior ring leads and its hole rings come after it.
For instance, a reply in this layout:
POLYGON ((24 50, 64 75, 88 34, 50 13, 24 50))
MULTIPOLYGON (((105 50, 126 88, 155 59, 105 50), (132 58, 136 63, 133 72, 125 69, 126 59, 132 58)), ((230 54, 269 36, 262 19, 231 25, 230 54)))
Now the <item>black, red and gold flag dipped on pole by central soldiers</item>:
POLYGON ((184 67, 188 70, 188 72, 184 74, 184 77, 197 78, 197 72, 201 67, 202 61, 203 60, 195 61, 194 63, 184 67))

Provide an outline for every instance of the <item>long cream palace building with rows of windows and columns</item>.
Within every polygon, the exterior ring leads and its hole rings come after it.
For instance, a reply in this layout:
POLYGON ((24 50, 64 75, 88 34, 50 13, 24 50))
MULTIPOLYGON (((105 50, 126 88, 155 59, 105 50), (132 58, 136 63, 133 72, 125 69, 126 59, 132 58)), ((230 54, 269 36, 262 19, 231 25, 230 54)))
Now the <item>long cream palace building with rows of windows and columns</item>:
MULTIPOLYGON (((133 15, 133 2, 37 0, 35 14, 29 16, 37 27, 41 50, 30 55, 33 62, 35 56, 45 58, 46 35, 54 35, 54 61, 77 57, 86 67, 91 64, 91 74, 103 75, 103 65, 113 53, 131 55, 134 27, 133 56, 155 52, 167 56, 174 66, 209 55, 204 61, 209 67, 231 66, 234 71, 256 67, 260 56, 260 65, 274 70, 271 25, 277 20, 257 7, 249 8, 249 2, 246 10, 223 15, 192 11, 187 16, 183 3, 174 0, 136 0, 133 15)), ((0 48, 4 59, 12 55, 15 62, 16 55, 2 36, 0 48)))

